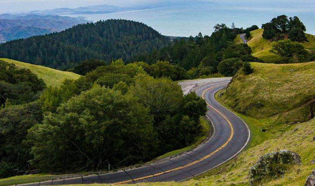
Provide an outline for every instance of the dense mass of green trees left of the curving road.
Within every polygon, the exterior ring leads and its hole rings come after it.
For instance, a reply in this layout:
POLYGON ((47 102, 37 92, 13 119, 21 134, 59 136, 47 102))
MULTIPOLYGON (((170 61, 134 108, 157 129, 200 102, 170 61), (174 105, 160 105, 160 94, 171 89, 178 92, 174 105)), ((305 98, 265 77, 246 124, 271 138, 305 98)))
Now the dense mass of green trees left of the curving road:
POLYGON ((125 167, 204 136, 202 98, 183 95, 176 82, 151 77, 142 66, 122 60, 50 86, 28 102, 0 109, 2 178, 99 171, 108 163, 112 169, 125 167))

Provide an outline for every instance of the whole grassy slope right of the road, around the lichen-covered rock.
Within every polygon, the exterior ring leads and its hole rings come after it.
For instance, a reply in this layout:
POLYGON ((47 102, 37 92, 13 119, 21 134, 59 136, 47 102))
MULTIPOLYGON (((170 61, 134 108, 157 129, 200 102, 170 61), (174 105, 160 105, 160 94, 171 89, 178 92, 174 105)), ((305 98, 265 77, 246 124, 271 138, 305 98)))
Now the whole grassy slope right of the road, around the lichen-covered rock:
POLYGON ((252 74, 239 71, 227 89, 216 94, 224 106, 242 113, 238 115, 251 128, 251 143, 241 155, 195 182, 248 185, 249 168, 260 155, 285 149, 300 155, 302 165, 291 166, 284 177, 265 184, 304 185, 315 158, 312 153, 315 151, 315 89, 312 87, 315 62, 252 63, 252 67, 252 74), (216 175, 218 171, 220 174, 216 175))

